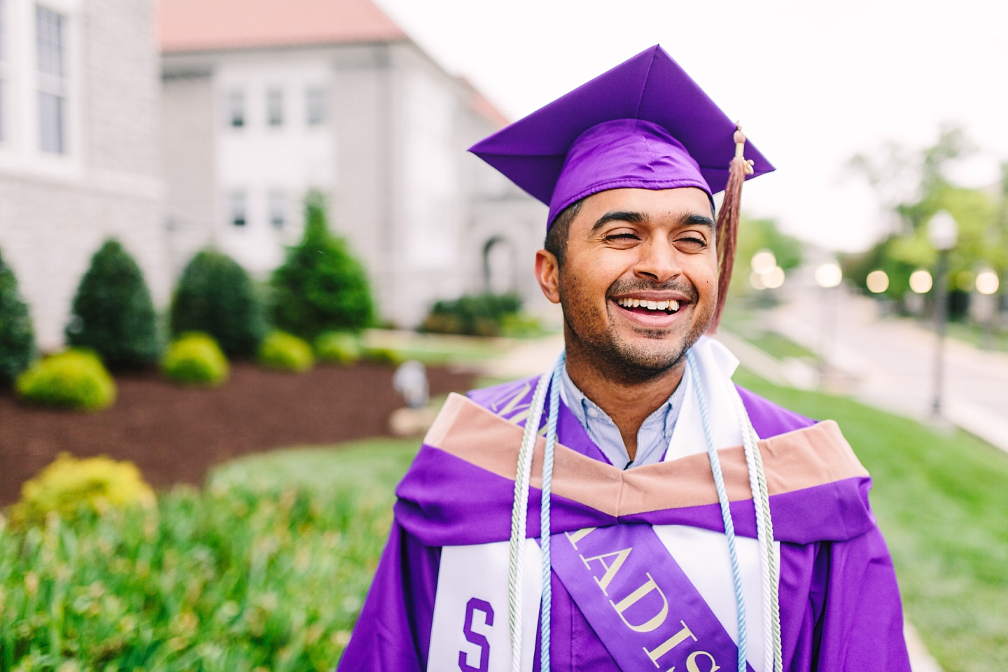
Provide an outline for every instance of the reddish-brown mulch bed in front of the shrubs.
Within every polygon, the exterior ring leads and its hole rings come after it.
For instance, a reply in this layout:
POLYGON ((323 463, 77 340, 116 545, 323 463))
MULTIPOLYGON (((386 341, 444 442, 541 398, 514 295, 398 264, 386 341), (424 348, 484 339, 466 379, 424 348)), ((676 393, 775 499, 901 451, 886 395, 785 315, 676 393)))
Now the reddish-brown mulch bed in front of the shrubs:
MULTIPOLYGON (((232 457, 388 433, 403 406, 393 370, 374 364, 294 375, 236 363, 218 388, 172 385, 156 373, 117 379, 115 405, 98 413, 25 406, 0 397, 0 504, 62 451, 132 460, 154 486, 201 484, 232 457)), ((471 374, 428 368, 431 395, 463 392, 471 374)))

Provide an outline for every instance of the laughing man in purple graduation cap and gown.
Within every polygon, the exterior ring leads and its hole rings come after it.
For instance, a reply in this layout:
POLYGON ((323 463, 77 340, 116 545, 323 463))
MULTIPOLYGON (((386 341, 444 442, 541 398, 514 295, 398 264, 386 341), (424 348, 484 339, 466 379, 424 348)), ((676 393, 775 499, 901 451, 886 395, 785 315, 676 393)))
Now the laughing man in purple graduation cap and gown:
POLYGON ((550 207, 565 359, 446 403, 339 670, 909 670, 868 474, 704 335, 744 142, 655 46, 473 148, 550 207))

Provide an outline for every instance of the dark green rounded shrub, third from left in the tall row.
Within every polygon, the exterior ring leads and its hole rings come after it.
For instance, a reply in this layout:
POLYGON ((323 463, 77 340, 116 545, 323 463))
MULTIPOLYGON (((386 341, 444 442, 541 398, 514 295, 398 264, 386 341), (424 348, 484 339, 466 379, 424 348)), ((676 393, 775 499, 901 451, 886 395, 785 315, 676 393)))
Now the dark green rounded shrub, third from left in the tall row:
POLYGON ((262 302, 234 259, 203 250, 185 266, 171 299, 171 332, 203 331, 228 357, 251 357, 266 331, 262 302))

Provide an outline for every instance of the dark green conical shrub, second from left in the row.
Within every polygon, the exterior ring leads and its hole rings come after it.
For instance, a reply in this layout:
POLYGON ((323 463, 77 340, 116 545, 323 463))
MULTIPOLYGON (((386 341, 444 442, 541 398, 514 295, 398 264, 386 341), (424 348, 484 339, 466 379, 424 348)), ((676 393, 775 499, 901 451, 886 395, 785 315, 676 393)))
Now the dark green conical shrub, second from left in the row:
POLYGON ((67 342, 95 351, 110 369, 157 361, 154 304, 140 267, 118 241, 106 241, 91 258, 74 297, 67 342))

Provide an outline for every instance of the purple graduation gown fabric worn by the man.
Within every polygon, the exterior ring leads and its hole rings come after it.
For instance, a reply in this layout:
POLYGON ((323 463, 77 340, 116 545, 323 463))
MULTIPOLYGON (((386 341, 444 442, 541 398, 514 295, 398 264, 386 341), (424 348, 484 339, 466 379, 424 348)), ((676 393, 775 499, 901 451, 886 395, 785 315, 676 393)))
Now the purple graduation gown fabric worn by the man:
MULTIPOLYGON (((515 409, 522 407, 514 402, 515 395, 527 405, 535 380, 476 390, 469 397, 496 415, 507 417, 511 413, 510 420, 515 422, 520 417, 515 409), (527 394, 522 395, 523 390, 527 394), (512 401, 501 408, 502 400, 508 399, 512 401)), ((739 388, 739 392, 760 439, 815 424, 748 390, 739 388)), ((606 461, 571 411, 562 406, 558 441, 583 455, 606 461)), ((766 452, 763 443, 761 451, 766 452)), ((639 467, 646 468, 650 467, 639 467)), ((772 464, 768 465, 768 480, 772 476, 770 468, 772 464)), ((744 468, 740 478, 744 479, 744 468)), ((871 479, 861 467, 857 476, 827 481, 777 494, 771 489, 774 534, 780 541, 784 669, 909 672, 896 576, 868 502, 871 479)), ((712 492, 713 487, 712 480, 712 492)), ((504 541, 509 537, 513 480, 438 447, 424 443, 396 495, 388 544, 338 672, 426 670, 442 547, 504 541)), ((528 517, 528 536, 532 538, 539 536, 535 513, 539 496, 540 491, 533 488, 528 517)), ((736 533, 755 537, 751 499, 731 499, 736 533)), ((555 487, 550 501, 554 534, 617 522, 690 525, 724 531, 715 503, 614 518, 558 496, 555 487)), ((555 572, 551 627, 552 670, 619 669, 555 572)), ((539 670, 538 653, 534 669, 539 670)))

